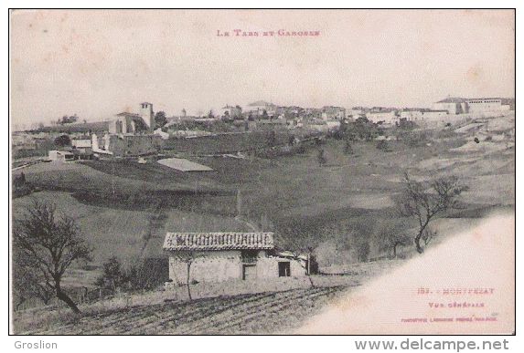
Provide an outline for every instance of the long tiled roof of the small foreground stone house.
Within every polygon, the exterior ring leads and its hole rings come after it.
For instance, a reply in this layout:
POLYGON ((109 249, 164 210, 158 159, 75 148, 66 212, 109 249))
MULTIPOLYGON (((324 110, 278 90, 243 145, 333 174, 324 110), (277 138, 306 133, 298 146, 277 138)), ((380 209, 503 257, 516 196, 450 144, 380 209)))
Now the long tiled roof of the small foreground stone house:
POLYGON ((273 233, 168 233, 164 250, 270 250, 273 233))

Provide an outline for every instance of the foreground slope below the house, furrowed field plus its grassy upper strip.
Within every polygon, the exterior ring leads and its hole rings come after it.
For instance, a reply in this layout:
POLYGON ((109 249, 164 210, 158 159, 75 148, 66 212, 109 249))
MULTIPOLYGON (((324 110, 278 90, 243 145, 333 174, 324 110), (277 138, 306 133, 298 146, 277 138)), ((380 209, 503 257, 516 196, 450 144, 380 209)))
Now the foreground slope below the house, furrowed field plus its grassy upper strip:
POLYGON ((198 335, 283 334, 304 324, 329 303, 404 261, 380 261, 346 268, 347 275, 313 275, 266 283, 230 281, 198 284, 187 300, 186 288, 122 295, 80 306, 76 317, 62 306, 16 312, 16 334, 28 335, 198 335))

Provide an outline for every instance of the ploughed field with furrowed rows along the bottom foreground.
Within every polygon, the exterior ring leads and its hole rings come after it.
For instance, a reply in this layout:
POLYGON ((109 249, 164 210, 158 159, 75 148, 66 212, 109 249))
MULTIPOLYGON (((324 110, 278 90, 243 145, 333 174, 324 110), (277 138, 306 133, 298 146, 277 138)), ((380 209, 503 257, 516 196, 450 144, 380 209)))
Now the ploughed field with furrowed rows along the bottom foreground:
MULTIPOLYGON (((299 288, 192 302, 132 306, 16 332, 29 335, 198 335, 289 333, 348 286, 299 288)), ((15 322, 16 327, 16 322, 15 322)))

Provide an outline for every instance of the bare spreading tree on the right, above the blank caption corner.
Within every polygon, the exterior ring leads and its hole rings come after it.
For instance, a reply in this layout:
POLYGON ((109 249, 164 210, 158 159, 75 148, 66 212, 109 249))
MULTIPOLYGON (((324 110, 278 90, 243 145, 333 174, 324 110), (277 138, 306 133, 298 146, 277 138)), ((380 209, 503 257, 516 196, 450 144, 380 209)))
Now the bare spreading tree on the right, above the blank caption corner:
POLYGON ((420 241, 428 224, 436 214, 444 213, 450 208, 458 208, 457 197, 467 190, 467 186, 454 175, 435 178, 427 185, 413 181, 407 172, 404 173, 401 182, 403 185, 399 202, 401 214, 415 217, 418 221, 419 230, 414 241, 417 251, 422 254, 420 241))

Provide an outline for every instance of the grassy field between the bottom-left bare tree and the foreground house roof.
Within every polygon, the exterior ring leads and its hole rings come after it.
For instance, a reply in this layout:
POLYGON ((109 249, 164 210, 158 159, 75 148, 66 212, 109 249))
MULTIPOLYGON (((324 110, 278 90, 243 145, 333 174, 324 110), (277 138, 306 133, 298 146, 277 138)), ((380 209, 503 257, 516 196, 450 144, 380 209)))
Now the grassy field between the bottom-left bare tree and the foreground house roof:
POLYGON ((91 206, 78 202, 68 192, 37 192, 13 201, 14 217, 20 216, 33 198, 54 202, 61 212, 76 217, 83 235, 95 247, 95 264, 98 265, 112 254, 124 260, 139 255, 162 256, 162 244, 166 232, 174 229, 180 232, 246 230, 244 224, 234 219, 166 210, 166 222, 155 229, 153 237, 145 242, 145 237, 150 230, 148 217, 151 212, 91 206))

